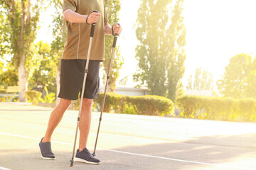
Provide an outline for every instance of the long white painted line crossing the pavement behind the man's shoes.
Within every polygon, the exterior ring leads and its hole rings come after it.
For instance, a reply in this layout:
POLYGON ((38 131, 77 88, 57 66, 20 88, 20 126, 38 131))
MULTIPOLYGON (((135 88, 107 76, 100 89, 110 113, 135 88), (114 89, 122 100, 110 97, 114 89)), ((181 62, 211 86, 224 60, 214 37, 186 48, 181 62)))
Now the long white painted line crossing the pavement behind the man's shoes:
MULTIPOLYGON (((41 140, 41 138, 38 138, 38 137, 26 137, 26 136, 23 136, 23 135, 14 135, 14 134, 6 133, 6 132, 0 132, 0 134, 1 135, 14 136, 14 137, 23 137, 23 138, 27 138, 27 139, 31 139, 31 140, 41 140)), ((67 142, 58 142, 58 141, 51 141, 51 142, 58 143, 58 144, 63 144, 63 145, 71 145, 71 146, 74 145, 74 144, 67 143, 67 142)), ((94 147, 89 147, 89 148, 93 149, 94 147)), ((241 166, 212 164, 212 163, 207 163, 207 162, 194 162, 194 161, 187 161, 187 160, 183 160, 183 159, 173 159, 173 158, 169 158, 169 157, 158 157, 158 156, 153 156, 153 155, 149 155, 149 154, 136 154, 136 153, 132 153, 132 152, 122 152, 122 151, 112 150, 112 149, 103 149, 103 148, 97 148, 97 149, 110 151, 110 152, 117 152, 117 153, 121 153, 121 154, 131 154, 131 155, 136 155, 136 156, 140 156, 140 157, 151 157, 151 158, 157 158, 157 159, 166 159, 166 160, 175 161, 175 162, 187 162, 187 163, 193 163, 193 164, 206 164, 206 165, 222 166, 222 167, 233 168, 233 169, 242 169, 242 170, 244 170, 244 169, 255 170, 255 169, 241 167, 241 166)))

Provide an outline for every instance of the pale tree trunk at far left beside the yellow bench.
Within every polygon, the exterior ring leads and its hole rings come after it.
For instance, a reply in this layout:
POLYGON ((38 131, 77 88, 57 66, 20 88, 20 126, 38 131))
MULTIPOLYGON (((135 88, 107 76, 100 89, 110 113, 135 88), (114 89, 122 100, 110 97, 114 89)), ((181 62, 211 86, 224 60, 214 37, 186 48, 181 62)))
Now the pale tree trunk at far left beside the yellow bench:
POLYGON ((28 90, 26 89, 26 84, 27 84, 27 78, 26 78, 26 70, 24 68, 25 64, 25 55, 21 55, 21 60, 18 64, 18 86, 21 86, 21 98, 23 102, 26 102, 26 95, 25 91, 28 90))

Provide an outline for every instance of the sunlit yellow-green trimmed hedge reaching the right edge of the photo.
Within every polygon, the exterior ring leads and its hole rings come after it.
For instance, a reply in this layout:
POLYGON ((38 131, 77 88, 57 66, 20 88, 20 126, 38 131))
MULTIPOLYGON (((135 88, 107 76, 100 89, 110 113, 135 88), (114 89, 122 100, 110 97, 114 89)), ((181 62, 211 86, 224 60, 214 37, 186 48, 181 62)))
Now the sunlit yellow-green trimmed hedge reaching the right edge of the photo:
POLYGON ((256 100, 184 96, 176 99, 181 118, 256 121, 256 100))

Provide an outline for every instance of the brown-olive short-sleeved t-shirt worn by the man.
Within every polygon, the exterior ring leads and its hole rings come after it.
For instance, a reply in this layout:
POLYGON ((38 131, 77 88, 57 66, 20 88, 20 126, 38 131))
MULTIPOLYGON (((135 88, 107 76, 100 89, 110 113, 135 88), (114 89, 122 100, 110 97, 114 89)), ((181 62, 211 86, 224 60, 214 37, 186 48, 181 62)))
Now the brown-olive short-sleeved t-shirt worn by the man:
MULTIPOLYGON (((64 0, 63 11, 70 8, 81 15, 89 15, 97 10, 101 13, 95 25, 95 35, 92 40, 90 60, 103 61, 105 53, 105 22, 107 13, 103 0, 64 0)), ((63 60, 87 59, 87 52, 90 41, 91 25, 87 23, 70 23, 66 21, 68 37, 63 50, 63 60)))

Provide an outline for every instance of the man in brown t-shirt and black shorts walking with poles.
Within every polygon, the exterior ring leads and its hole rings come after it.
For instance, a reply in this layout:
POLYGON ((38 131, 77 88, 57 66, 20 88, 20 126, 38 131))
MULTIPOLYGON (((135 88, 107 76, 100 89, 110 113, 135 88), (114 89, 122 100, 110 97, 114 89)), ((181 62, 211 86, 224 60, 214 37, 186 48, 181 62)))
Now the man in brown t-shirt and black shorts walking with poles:
POLYGON ((64 0, 63 16, 68 27, 68 38, 63 50, 60 67, 60 94, 58 95, 60 103, 51 113, 46 135, 39 143, 41 157, 43 159, 55 159, 55 155, 51 150, 50 138, 63 118, 66 109, 70 106, 71 100, 78 99, 78 94, 82 91, 90 28, 92 23, 97 23, 92 41, 85 94, 82 99, 79 149, 75 155, 75 161, 100 164, 100 160, 92 157, 92 154, 86 148, 90 132, 91 106, 92 100, 97 98, 99 92, 100 62, 104 60, 105 52, 104 35, 120 34, 122 26, 114 24, 112 29, 107 20, 103 0, 64 0), (94 10, 99 11, 99 13, 91 13, 94 10))

